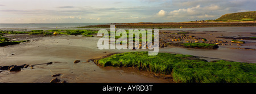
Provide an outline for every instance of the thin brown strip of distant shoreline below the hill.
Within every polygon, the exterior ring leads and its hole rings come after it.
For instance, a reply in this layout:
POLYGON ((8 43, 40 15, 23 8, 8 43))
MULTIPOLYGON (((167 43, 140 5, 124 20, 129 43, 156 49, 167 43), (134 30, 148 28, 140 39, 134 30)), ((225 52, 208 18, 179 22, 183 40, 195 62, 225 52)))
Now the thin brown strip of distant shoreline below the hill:
MULTIPOLYGON (((255 27, 255 22, 180 22, 180 23, 112 23, 117 28, 202 28, 202 27, 255 27)), ((110 28, 110 25, 87 25, 81 28, 110 28)))

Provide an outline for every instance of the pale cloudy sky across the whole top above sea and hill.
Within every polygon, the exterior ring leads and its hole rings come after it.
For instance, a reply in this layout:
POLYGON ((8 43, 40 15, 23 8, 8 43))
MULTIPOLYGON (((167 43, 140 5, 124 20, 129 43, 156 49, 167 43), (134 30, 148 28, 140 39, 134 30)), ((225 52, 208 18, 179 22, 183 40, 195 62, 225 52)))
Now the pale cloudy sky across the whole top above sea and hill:
POLYGON ((255 0, 0 0, 0 23, 188 22, 256 11, 255 0))

